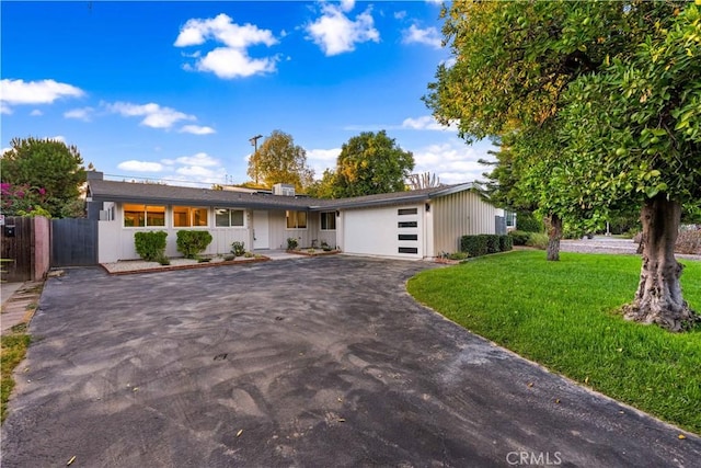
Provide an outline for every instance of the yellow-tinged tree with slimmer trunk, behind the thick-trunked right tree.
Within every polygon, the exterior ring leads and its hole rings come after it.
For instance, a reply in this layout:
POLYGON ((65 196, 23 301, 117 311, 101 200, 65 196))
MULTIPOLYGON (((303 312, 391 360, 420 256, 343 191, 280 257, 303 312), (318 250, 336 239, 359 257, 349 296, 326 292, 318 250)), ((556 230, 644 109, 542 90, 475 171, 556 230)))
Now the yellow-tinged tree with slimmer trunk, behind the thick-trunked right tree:
MULTIPOLYGON (((667 24, 674 9, 642 1, 452 2, 443 11, 443 31, 455 62, 439 66, 424 100, 439 122, 457 123, 469 141, 513 134, 519 140, 516 175, 547 181, 540 189, 552 191, 549 180, 563 180, 550 172, 563 169, 561 148, 544 148, 549 136, 542 130, 555 129, 562 93, 578 77, 597 72, 607 57, 630 56, 643 32, 667 24)), ((539 198, 555 202, 540 206, 550 217, 548 256, 554 260, 562 231, 556 209, 565 203, 539 198)))

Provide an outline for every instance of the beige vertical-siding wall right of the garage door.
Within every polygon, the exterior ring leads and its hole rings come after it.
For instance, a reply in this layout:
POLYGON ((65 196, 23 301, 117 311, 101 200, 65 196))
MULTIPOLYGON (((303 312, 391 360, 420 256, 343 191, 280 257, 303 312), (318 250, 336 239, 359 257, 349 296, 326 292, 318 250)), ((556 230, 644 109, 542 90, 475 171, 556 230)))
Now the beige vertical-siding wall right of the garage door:
POLYGON ((432 203, 435 254, 460 250, 460 237, 495 233, 496 208, 475 193, 463 191, 432 203))

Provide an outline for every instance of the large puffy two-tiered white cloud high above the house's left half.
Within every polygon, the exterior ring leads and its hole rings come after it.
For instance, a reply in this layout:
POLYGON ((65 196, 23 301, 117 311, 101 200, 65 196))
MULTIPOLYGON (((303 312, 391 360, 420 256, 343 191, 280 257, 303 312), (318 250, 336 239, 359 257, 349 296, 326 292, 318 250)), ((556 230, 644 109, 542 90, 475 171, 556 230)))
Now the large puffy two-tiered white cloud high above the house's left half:
POLYGON ((195 59, 194 66, 185 64, 186 70, 209 71, 219 78, 239 78, 263 75, 276 70, 277 56, 252 58, 248 48, 257 44, 268 47, 278 43, 269 30, 253 24, 235 24, 223 13, 212 19, 191 19, 181 27, 175 47, 202 46, 207 41, 223 44, 206 55, 196 50, 187 56, 195 59))

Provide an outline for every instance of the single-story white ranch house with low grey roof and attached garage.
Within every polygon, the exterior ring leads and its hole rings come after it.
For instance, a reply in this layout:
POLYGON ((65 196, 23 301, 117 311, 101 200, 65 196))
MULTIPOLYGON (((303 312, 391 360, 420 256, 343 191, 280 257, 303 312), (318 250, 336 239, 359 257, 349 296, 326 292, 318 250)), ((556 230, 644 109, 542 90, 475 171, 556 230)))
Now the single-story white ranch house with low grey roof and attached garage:
POLYGON ((206 229, 206 254, 228 253, 233 241, 246 250, 286 249, 322 242, 345 253, 425 259, 459 251, 460 237, 505 233, 504 210, 484 202, 472 184, 319 199, 295 195, 281 184, 273 193, 193 189, 106 181, 88 173, 88 217, 99 219, 100 263, 138 259, 134 233, 164 230, 165 254, 177 256, 176 232, 206 229))

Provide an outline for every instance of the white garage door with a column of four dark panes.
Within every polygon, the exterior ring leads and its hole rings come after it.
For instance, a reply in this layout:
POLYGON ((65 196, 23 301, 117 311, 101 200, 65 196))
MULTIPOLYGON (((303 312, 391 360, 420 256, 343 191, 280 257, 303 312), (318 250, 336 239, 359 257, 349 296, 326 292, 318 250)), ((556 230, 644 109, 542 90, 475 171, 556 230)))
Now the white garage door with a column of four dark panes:
POLYGON ((423 222, 416 206, 353 209, 344 216, 344 250, 364 255, 423 258, 423 222))

